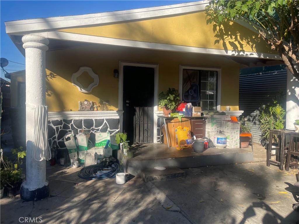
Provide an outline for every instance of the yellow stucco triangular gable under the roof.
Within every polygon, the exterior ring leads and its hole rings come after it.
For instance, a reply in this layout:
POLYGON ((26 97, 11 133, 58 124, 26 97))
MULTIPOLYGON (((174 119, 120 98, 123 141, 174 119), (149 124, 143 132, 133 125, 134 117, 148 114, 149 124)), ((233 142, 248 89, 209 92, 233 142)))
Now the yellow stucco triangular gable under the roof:
POLYGON ((172 45, 277 54, 257 37, 257 33, 233 22, 224 26, 226 35, 217 42, 213 25, 206 23, 205 12, 59 31, 172 45))

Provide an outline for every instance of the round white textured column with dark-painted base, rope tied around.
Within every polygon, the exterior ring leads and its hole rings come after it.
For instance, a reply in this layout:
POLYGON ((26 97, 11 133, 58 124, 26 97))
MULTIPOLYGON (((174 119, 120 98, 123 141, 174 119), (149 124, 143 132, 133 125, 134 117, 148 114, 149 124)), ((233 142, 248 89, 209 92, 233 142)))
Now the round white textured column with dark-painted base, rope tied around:
MULTIPOLYGON (((45 55, 49 40, 45 37, 28 34, 22 37, 26 57, 26 104, 45 105, 45 55)), ((31 158, 34 110, 26 107, 26 180, 21 186, 21 198, 37 201, 49 196, 46 180, 46 161, 37 162, 31 158)), ((47 136, 48 138, 48 136, 47 136)))

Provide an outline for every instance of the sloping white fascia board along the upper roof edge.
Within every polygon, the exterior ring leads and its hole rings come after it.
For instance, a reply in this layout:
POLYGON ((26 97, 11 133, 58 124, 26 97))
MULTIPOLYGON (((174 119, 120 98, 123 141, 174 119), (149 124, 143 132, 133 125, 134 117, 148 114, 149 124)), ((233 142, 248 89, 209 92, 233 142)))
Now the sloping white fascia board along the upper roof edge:
POLYGON ((207 0, 142 9, 94 13, 79 16, 60 16, 5 22, 6 33, 24 35, 71 27, 96 26, 119 22, 176 16, 205 10, 207 0))

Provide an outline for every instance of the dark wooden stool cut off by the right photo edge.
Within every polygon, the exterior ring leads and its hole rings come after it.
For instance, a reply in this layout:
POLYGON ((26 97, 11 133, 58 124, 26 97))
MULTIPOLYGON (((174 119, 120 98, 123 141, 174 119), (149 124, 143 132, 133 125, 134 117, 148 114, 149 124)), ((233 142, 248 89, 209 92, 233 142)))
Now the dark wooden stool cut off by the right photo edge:
POLYGON ((291 132, 290 134, 290 145, 286 155, 286 171, 289 170, 290 166, 295 166, 295 169, 298 168, 298 159, 296 156, 299 156, 299 133, 291 132))

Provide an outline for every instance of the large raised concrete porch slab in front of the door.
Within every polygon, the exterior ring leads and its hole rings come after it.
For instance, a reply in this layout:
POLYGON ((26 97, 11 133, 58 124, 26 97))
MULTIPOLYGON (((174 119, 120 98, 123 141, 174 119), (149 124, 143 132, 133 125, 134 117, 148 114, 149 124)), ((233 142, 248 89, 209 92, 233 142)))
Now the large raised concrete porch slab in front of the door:
POLYGON ((141 170, 155 166, 186 169, 253 162, 252 151, 242 148, 208 148, 203 153, 196 153, 193 149, 167 148, 167 145, 158 143, 141 144, 134 148, 137 151, 133 158, 124 158, 121 151, 118 151, 118 159, 122 161, 124 171, 134 176, 141 176, 141 170))

